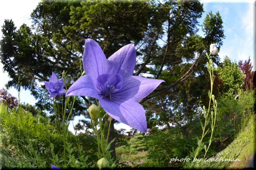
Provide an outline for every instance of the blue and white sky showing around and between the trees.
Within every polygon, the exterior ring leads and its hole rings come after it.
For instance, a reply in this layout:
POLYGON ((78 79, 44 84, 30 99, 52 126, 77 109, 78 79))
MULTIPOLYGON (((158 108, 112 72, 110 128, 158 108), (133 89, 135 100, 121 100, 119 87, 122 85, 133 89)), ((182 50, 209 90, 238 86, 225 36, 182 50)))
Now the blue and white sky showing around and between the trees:
MULTIPOLYGON (((0 25, 3 25, 4 19, 12 19, 17 28, 19 28, 23 23, 28 26, 31 25, 30 13, 39 3, 39 0, 9 0, 9 1, 0 1, 0 25)), ((251 61, 253 64, 253 70, 256 70, 256 60, 255 60, 255 16, 254 8, 255 3, 251 0, 237 0, 237 1, 220 1, 220 0, 210 0, 210 1, 201 1, 204 4, 204 13, 202 18, 199 19, 200 24, 203 24, 203 20, 206 14, 210 10, 215 14, 219 11, 223 20, 223 29, 224 35, 226 38, 223 40, 223 46, 219 52, 221 61, 224 56, 228 56, 233 61, 246 60, 251 56, 251 61), (241 3, 246 2, 246 3, 241 3)), ((198 34, 203 36, 203 32, 200 28, 198 34)), ((2 32, 0 32, 0 37, 2 37, 2 32)), ((9 77, 7 73, 3 73, 3 65, 0 63, 0 88, 3 88, 4 85, 8 82, 9 77)), ((16 89, 11 88, 9 92, 18 96, 16 89)), ((32 105, 35 104, 36 100, 30 94, 29 91, 22 90, 21 92, 21 102, 27 102, 32 105)), ((78 119, 83 117, 77 117, 74 121, 76 124, 78 119)), ((130 129, 129 126, 119 123, 115 124, 116 129, 125 128, 130 129)), ((73 132, 72 127, 70 130, 73 132)))

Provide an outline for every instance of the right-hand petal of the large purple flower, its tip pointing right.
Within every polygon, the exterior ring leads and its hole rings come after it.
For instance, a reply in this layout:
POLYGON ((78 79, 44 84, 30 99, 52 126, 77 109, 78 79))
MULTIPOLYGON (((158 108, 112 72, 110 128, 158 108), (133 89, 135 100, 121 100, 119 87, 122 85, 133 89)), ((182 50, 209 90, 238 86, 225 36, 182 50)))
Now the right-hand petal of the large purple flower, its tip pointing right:
POLYGON ((134 99, 139 101, 153 92, 164 80, 130 76, 123 81, 121 90, 111 94, 114 98, 134 99))

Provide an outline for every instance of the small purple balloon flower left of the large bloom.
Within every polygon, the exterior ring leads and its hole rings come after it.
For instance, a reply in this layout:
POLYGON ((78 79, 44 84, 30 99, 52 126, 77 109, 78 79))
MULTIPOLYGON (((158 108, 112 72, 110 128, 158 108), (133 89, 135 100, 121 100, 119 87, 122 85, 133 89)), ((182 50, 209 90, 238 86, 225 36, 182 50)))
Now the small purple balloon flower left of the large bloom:
POLYGON ((44 82, 45 87, 48 92, 51 94, 51 97, 58 97, 66 93, 66 89, 64 89, 64 80, 63 78, 57 79, 56 74, 52 72, 52 76, 49 79, 49 82, 44 82))

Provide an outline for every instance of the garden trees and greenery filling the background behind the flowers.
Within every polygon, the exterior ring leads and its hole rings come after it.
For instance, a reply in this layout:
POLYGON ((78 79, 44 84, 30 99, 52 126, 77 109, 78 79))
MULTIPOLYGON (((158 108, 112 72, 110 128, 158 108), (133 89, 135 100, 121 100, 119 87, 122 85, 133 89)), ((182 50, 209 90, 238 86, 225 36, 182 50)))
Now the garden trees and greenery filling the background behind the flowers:
MULTIPOLYGON (((115 141, 109 149, 113 150, 110 166, 186 166, 185 162, 170 159, 191 157, 199 145, 203 105, 208 107, 211 88, 205 55, 211 43, 221 51, 225 38, 218 12, 209 12, 203 25, 199 24, 203 10, 203 4, 196 1, 42 1, 31 14, 33 25, 16 28, 13 20, 5 20, 0 58, 10 81, 0 90, 0 168, 62 167, 60 113, 65 96, 59 101, 49 99, 41 82, 48 81, 52 71, 60 78, 65 70, 70 87, 83 72, 81 59, 87 38, 97 41, 107 58, 134 43, 134 75, 165 80, 139 101, 146 111, 147 133, 116 130, 117 122, 111 122, 109 141, 115 141), (204 36, 197 34, 199 30, 204 36), (37 103, 21 103, 20 95, 8 93, 11 86, 19 93, 21 89, 31 91, 37 103)), ((249 56, 238 62, 229 57, 223 61, 218 54, 211 58, 218 110, 213 142, 206 156, 242 161, 208 165, 215 168, 246 167, 256 149, 253 65, 249 56)), ((79 115, 90 118, 89 99, 96 103, 84 96, 76 99, 69 121, 79 115)), ((71 105, 66 110, 71 110, 71 105)), ((75 134, 67 132, 69 167, 95 167, 97 140, 90 119, 69 126, 77 130, 75 134), (78 132, 81 129, 84 133, 78 132)), ((211 133, 207 133, 206 144, 210 138, 211 133)))

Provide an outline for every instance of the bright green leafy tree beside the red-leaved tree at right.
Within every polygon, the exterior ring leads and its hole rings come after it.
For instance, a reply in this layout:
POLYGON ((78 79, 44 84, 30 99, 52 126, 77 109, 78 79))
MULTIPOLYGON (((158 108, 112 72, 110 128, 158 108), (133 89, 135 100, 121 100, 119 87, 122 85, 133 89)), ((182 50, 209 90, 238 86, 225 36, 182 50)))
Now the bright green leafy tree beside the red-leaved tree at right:
POLYGON ((224 82, 224 89, 227 95, 231 93, 236 94, 237 90, 241 88, 244 81, 244 74, 239 69, 235 62, 226 56, 221 67, 218 68, 218 73, 221 74, 220 78, 224 82))

